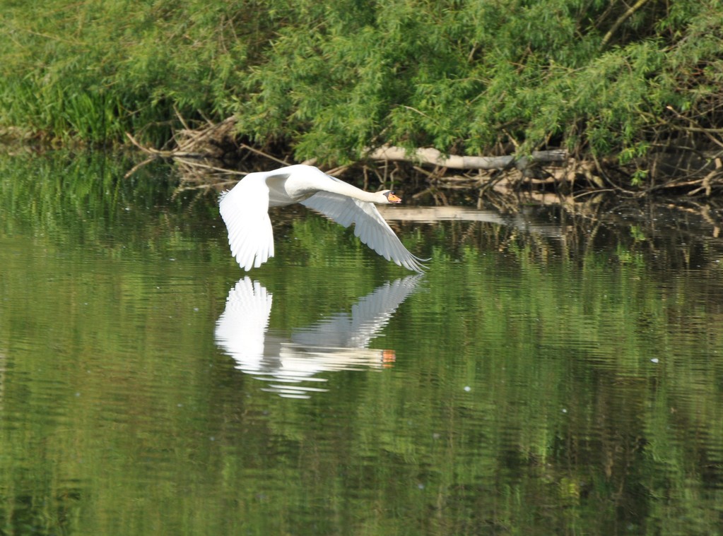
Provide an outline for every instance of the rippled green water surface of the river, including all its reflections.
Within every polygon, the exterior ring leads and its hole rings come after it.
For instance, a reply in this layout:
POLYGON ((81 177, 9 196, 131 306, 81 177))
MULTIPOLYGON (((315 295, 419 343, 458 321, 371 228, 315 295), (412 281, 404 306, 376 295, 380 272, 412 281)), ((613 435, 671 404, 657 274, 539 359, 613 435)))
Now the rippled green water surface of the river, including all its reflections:
POLYGON ((213 196, 0 159, 7 534, 720 534, 706 207, 303 209, 244 274, 213 196))

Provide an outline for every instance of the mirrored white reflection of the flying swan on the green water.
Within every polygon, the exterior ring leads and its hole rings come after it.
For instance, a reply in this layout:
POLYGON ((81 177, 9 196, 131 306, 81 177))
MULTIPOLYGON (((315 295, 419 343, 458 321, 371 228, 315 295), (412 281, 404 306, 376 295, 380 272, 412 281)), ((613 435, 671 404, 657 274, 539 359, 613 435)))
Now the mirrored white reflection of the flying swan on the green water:
POLYGON ((309 398, 327 389, 323 371, 354 371, 390 366, 394 350, 369 350, 394 311, 414 292, 421 275, 387 282, 359 298, 351 313, 335 313, 316 324, 295 329, 290 338, 267 335, 272 295, 260 282, 244 277, 228 291, 218 318, 216 344, 236 360, 236 368, 268 381, 267 391, 282 397, 309 398))

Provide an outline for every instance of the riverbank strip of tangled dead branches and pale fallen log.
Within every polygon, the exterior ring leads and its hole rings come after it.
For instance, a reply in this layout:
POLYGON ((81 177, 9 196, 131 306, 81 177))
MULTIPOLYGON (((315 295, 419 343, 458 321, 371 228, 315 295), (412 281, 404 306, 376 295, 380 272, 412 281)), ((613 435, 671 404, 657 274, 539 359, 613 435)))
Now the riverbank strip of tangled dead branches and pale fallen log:
MULTIPOLYGON (((158 150, 134 137, 129 140, 147 155, 137 167, 155 159, 174 160, 181 185, 190 189, 226 188, 255 170, 268 170, 300 163, 291 155, 273 155, 244 143, 236 118, 218 124, 207 121, 198 129, 176 133, 175 147, 158 150)), ((619 159, 576 158, 566 150, 533 152, 531 155, 455 156, 433 148, 405 150, 377 147, 363 159, 337 167, 321 167, 330 175, 345 178, 364 189, 403 189, 416 202, 447 205, 454 193, 478 206, 489 196, 525 196, 540 204, 569 203, 594 194, 625 198, 645 196, 717 196, 723 190, 723 165, 719 157, 693 157, 685 152, 656 152, 648 180, 635 183, 636 163, 620 165, 619 159)), ((301 163, 318 165, 317 159, 301 163)), ((129 171, 132 174, 134 170, 129 171)))

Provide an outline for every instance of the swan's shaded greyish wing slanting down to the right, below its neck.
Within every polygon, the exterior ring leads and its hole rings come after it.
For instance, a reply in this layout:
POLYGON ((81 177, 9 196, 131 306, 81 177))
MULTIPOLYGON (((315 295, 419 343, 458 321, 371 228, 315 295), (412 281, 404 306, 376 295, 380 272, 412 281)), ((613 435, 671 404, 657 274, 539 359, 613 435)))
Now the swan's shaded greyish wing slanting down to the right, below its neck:
POLYGON ((354 234, 362 243, 398 266, 414 272, 424 272, 424 265, 420 262, 422 259, 409 253, 380 215, 374 203, 359 201, 330 191, 319 191, 301 204, 344 227, 354 223, 354 234))

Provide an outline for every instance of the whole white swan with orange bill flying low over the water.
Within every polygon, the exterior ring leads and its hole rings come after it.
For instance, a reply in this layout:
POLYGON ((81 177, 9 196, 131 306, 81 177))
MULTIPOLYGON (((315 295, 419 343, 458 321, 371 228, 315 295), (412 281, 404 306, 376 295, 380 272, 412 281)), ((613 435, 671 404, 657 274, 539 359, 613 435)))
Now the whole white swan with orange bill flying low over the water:
POLYGON ((393 191, 375 194, 351 186, 311 165, 289 165, 249 173, 221 194, 219 209, 228 229, 231 254, 244 270, 258 268, 273 256, 269 207, 301 203, 348 227, 362 243, 399 266, 423 272, 422 259, 409 253, 380 215, 377 204, 397 204, 393 191))

